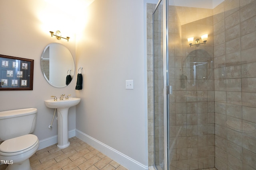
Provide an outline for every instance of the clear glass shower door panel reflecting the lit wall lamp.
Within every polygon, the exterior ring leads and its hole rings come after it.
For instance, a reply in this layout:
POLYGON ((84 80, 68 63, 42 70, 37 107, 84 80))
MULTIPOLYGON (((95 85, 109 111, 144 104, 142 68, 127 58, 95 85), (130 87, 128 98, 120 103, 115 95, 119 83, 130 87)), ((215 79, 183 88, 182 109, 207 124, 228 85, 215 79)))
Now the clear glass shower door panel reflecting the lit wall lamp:
POLYGON ((214 167, 213 16, 212 10, 205 9, 202 19, 196 18, 198 11, 185 6, 168 10, 168 73, 173 86, 168 114, 170 170, 214 167), (209 36, 206 44, 190 47, 187 38, 194 36, 202 42, 204 34, 209 36))

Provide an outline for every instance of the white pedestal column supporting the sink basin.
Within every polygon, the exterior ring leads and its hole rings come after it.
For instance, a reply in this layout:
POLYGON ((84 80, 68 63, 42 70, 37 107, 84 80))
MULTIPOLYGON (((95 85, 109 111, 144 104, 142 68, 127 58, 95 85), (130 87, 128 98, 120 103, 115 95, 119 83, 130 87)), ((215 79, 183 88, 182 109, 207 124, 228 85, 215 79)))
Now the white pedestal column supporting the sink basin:
POLYGON ((57 109, 58 115, 58 145, 59 149, 64 149, 70 145, 68 141, 68 109, 57 109))

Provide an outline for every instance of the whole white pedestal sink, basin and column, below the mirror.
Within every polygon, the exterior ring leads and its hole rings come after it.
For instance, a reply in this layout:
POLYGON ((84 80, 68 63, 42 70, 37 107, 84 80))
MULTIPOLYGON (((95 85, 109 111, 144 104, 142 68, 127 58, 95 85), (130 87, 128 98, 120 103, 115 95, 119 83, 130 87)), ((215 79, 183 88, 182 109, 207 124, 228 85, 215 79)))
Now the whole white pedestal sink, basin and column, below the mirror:
POLYGON ((58 145, 59 149, 64 149, 70 145, 68 141, 68 109, 76 106, 80 102, 80 98, 68 98, 67 100, 54 99, 44 100, 44 104, 53 109, 57 109, 58 114, 58 145))

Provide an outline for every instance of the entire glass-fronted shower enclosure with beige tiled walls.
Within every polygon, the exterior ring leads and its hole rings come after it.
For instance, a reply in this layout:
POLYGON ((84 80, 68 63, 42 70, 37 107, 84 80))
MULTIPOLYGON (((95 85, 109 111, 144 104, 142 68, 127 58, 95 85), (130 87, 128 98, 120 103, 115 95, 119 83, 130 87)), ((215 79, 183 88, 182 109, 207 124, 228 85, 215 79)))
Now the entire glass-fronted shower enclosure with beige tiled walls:
POLYGON ((174 2, 147 5, 149 162, 158 170, 256 170, 256 1, 174 2))

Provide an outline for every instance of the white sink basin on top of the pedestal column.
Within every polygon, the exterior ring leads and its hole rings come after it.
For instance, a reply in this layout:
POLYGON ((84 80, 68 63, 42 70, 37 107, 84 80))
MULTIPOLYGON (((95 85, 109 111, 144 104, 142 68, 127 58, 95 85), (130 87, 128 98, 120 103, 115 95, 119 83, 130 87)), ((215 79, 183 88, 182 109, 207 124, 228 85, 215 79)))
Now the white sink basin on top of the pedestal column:
POLYGON ((44 103, 49 108, 64 109, 64 108, 76 106, 80 102, 80 100, 81 100, 80 98, 68 98, 68 100, 63 99, 58 101, 49 99, 49 100, 44 100, 44 103))

